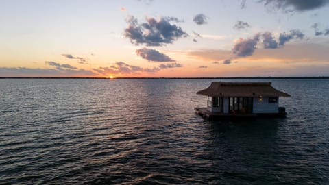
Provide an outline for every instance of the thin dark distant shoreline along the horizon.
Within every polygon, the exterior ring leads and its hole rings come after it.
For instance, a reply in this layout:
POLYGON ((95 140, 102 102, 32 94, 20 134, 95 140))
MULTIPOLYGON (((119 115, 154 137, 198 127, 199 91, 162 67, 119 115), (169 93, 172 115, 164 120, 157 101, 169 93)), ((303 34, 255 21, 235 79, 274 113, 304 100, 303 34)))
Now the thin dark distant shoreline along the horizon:
MULTIPOLYGON (((0 77, 0 79, 110 79, 110 77, 0 77)), ((329 79, 328 77, 116 77, 114 79, 329 79)))

